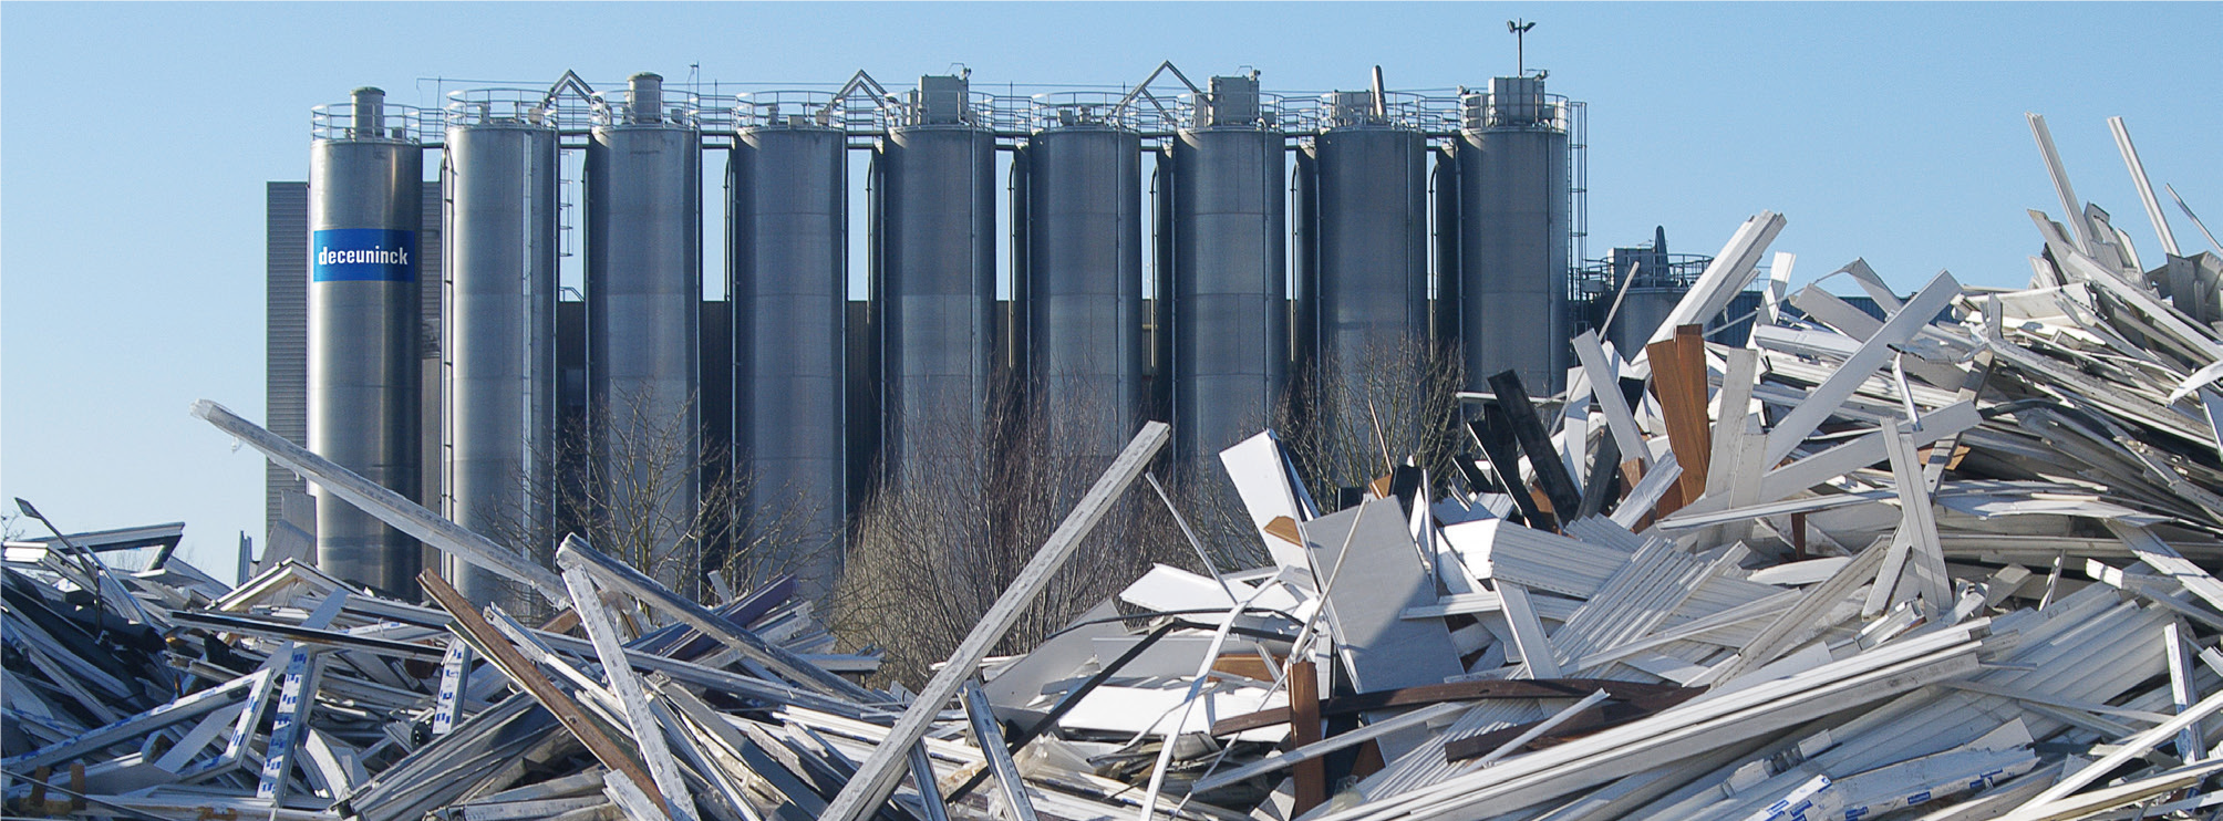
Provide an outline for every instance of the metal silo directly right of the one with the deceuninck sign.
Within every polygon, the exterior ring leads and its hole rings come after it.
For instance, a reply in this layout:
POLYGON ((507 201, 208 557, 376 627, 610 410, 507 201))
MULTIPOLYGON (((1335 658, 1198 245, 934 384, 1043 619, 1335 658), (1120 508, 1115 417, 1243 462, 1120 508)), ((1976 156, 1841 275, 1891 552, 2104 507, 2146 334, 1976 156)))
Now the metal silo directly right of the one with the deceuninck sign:
MULTIPOLYGON (((534 550, 554 537, 556 113, 531 91, 453 98, 442 162, 447 517, 534 550)), ((471 601, 534 601, 478 566, 449 561, 447 572, 471 601)))

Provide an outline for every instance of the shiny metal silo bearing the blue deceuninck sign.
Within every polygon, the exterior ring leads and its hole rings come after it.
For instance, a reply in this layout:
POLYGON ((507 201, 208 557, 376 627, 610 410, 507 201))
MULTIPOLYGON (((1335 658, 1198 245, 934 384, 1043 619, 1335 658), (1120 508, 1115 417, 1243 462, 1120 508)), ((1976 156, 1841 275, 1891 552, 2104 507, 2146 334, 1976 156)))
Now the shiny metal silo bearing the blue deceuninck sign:
MULTIPOLYGON (((309 450, 418 497, 418 229, 422 149, 411 113, 356 89, 316 111, 309 151, 309 450)), ((331 495, 316 561, 387 592, 416 590, 418 544, 331 495)))

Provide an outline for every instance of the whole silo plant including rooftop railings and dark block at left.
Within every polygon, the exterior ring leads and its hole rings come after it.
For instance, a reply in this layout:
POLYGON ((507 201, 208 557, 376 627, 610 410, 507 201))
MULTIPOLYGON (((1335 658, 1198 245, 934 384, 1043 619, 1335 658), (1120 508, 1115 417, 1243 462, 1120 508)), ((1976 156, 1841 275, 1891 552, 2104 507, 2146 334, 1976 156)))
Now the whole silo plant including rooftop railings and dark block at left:
MULTIPOLYGON (((1541 73, 1487 89, 1172 64, 1123 93, 358 89, 316 111, 309 184, 271 184, 271 426, 482 533, 591 484, 682 590, 729 548, 689 544, 705 475, 749 477, 736 539, 787 541, 823 592, 863 493, 969 475, 1014 399, 1085 457, 1169 419, 1174 470, 1216 482, 1305 368, 1436 344, 1469 391, 1554 393, 1589 311, 1585 109, 1541 73), (591 453, 562 464, 574 426, 591 453), (654 464, 620 453, 642 430, 654 464)), ((271 488, 276 526, 298 479, 271 488)), ((400 590, 425 561, 316 513, 327 570, 400 590)))

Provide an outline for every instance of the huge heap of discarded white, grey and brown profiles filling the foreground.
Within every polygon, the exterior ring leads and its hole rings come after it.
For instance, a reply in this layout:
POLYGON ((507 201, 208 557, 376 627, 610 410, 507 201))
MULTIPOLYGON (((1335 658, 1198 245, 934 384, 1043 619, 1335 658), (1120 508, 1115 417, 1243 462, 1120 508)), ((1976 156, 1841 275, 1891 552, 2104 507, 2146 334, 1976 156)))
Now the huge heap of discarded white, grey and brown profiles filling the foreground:
POLYGON ((576 537, 545 568, 200 404, 558 615, 431 572, 402 601, 298 561, 227 586, 11 544, 4 812, 2216 817, 2223 257, 2165 240, 2147 271, 2099 209, 2034 217, 2027 288, 1834 273, 1874 317, 1790 293, 1776 255, 1750 342, 1705 342, 1783 226, 1763 213, 1643 351, 1576 339, 1556 397, 1492 377, 1454 475, 1325 510, 1260 433, 1223 464, 1267 566, 1198 544, 1203 572, 991 657, 1145 477, 1149 424, 918 692, 863 686, 878 659, 791 584, 698 604, 576 537))

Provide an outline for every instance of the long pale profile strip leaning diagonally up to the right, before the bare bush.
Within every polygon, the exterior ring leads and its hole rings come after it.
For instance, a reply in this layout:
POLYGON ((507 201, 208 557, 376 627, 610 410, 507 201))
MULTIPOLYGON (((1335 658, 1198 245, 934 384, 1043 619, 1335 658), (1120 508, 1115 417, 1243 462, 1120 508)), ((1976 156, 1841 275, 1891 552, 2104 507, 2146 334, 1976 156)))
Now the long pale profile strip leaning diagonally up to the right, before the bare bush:
POLYGON ((958 688, 971 679, 989 648, 994 648, 996 641, 1011 630, 1020 610, 1025 610, 1027 604, 1034 601, 1034 595, 1049 584, 1049 577, 1065 566, 1065 559, 1074 555, 1080 539, 1096 526, 1096 521, 1112 510, 1112 501, 1116 501, 1118 495, 1125 493, 1138 475, 1143 475, 1143 466, 1147 466, 1149 459, 1165 448, 1169 433, 1172 428, 1165 422, 1143 424, 1143 430, 1127 444, 1127 450, 1120 450, 1118 459, 1112 462, 1112 468, 1107 468, 1105 475, 1096 479, 1096 486, 1080 497, 1074 513, 1058 524, 1058 530, 1043 541, 1043 548, 1034 553, 1034 559, 1027 561, 1018 577, 1014 577, 1003 595, 996 597, 996 604, 989 606, 987 615, 980 617, 980 624, 965 635, 965 641, 958 643, 947 663, 934 672, 934 679, 929 679, 918 692, 911 708, 903 710, 903 717, 896 719, 896 726, 887 732, 887 741, 874 748, 871 754, 858 763, 856 777, 849 779, 840 794, 834 797, 834 803, 827 805, 825 821, 865 821, 880 808, 880 803, 887 801, 887 797, 896 790, 896 781, 903 779, 903 770, 898 770, 898 766, 907 757, 905 750, 927 734, 927 726, 936 721, 943 706, 949 703, 958 688))

